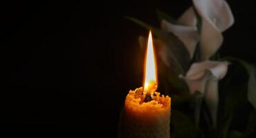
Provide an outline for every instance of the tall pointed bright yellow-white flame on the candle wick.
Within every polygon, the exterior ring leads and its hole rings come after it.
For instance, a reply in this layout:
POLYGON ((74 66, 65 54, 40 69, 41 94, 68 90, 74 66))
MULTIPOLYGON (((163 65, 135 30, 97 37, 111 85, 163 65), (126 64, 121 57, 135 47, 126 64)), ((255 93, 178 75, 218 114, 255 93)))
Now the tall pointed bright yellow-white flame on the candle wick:
POLYGON ((149 39, 147 41, 147 52, 145 59, 145 77, 143 87, 145 91, 154 92, 157 88, 157 72, 151 31, 149 32, 149 39))

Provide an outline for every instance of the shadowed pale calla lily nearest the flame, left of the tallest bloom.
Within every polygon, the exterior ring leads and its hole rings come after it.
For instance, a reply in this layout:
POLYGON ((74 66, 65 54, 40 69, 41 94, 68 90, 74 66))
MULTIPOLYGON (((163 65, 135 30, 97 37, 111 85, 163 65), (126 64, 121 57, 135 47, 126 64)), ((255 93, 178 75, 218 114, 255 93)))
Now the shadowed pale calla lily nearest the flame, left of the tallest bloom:
POLYGON ((190 53, 190 57, 193 57, 196 43, 199 41, 199 33, 196 30, 196 26, 182 26, 163 20, 161 28, 175 34, 184 43, 190 53))

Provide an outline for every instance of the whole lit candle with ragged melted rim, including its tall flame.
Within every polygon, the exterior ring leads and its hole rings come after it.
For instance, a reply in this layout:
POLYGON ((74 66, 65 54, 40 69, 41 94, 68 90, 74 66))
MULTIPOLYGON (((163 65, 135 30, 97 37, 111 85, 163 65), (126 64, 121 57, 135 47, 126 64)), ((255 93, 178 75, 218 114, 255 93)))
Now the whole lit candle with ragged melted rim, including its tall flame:
POLYGON ((143 87, 130 90, 120 114, 120 138, 170 138, 171 99, 158 86, 152 34, 149 32, 143 87))

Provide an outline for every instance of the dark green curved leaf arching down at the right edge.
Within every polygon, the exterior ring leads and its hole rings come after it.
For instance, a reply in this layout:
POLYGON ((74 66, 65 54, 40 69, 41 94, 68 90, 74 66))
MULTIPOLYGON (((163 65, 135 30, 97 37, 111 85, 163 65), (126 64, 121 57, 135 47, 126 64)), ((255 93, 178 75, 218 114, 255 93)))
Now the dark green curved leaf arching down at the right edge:
POLYGON ((225 57, 223 60, 228 60, 228 61, 235 61, 241 66, 244 66, 246 69, 249 79, 248 79, 248 93, 247 93, 247 98, 248 101, 253 105, 253 107, 256 109, 256 71, 253 66, 251 66, 249 63, 246 61, 243 61, 241 59, 237 59, 235 57, 225 57))

